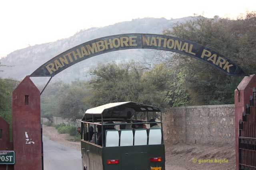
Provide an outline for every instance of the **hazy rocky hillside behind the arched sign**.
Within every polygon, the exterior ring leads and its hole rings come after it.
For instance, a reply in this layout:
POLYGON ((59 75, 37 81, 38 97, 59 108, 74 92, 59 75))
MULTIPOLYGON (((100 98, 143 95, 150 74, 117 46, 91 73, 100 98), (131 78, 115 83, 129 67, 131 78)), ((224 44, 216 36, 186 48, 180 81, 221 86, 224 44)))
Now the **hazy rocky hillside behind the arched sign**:
MULTIPOLYGON (((102 28, 80 30, 80 32, 70 38, 26 47, 8 54, 6 57, 0 59, 0 63, 3 65, 12 65, 12 67, 2 67, 1 69, 3 69, 4 72, 0 72, 0 77, 21 80, 59 53, 95 38, 124 33, 162 34, 163 30, 170 29, 175 23, 185 22, 190 19, 191 17, 172 20, 167 20, 165 18, 143 18, 134 19, 128 22, 120 22, 102 28)), ((128 60, 151 61, 154 54, 155 51, 149 49, 130 49, 110 52, 77 63, 56 75, 54 79, 61 79, 65 82, 70 82, 75 79, 88 79, 90 77, 88 75, 88 70, 97 63, 105 63, 107 61, 121 62, 128 60)))

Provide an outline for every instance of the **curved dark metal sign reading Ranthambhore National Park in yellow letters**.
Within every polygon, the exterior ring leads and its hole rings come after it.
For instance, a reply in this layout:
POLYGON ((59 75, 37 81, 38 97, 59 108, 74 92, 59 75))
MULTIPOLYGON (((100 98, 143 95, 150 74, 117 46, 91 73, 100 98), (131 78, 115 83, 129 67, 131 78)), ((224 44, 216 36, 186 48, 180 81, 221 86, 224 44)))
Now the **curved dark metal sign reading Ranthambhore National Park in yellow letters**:
POLYGON ((30 77, 53 77, 71 65, 95 55, 123 49, 142 48, 188 55, 204 61, 228 75, 246 75, 236 63, 195 42, 159 34, 119 34, 97 38, 68 49, 41 65, 30 77))

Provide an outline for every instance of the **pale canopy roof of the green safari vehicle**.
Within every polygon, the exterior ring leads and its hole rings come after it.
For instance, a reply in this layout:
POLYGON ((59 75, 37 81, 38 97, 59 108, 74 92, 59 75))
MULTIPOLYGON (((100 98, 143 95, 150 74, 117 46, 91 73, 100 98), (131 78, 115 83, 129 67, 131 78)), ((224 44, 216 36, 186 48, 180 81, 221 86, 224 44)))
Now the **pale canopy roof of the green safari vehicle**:
POLYGON ((100 121, 103 119, 131 119, 136 112, 161 112, 160 109, 150 105, 144 105, 132 101, 108 103, 106 105, 88 109, 82 121, 100 121))

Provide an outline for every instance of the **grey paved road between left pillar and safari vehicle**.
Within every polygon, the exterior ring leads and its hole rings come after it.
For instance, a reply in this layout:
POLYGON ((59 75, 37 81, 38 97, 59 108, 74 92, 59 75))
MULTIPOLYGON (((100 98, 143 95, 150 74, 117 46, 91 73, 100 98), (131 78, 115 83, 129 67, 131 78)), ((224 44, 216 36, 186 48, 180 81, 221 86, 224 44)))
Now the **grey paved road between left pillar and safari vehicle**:
POLYGON ((43 136, 44 170, 82 170, 81 152, 43 136))

